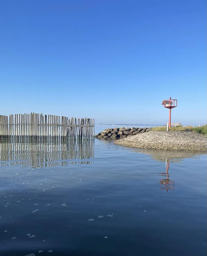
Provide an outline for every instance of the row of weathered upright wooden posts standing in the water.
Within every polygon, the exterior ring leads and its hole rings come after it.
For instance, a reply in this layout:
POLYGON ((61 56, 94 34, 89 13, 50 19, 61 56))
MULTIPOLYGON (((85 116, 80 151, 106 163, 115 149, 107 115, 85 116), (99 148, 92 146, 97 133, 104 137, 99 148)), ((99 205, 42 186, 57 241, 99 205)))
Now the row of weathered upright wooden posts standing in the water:
POLYGON ((94 119, 42 114, 0 115, 0 140, 93 139, 94 119))

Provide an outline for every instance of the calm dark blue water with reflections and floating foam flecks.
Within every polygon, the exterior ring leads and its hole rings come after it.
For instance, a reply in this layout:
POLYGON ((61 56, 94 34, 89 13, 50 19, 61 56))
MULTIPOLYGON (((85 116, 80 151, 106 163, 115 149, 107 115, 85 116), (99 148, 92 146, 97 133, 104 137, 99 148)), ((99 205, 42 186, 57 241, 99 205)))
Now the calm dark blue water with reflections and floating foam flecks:
POLYGON ((1 256, 206 255, 206 154, 103 140, 0 151, 1 256))

